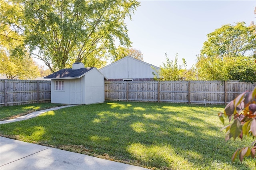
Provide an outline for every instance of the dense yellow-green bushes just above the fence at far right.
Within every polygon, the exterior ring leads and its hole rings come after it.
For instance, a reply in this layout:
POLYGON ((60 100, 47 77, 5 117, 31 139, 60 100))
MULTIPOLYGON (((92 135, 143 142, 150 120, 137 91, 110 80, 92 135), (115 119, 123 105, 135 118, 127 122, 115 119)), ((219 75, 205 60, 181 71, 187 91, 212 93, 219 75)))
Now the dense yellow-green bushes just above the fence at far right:
POLYGON ((199 80, 256 81, 256 63, 253 57, 197 57, 199 80))

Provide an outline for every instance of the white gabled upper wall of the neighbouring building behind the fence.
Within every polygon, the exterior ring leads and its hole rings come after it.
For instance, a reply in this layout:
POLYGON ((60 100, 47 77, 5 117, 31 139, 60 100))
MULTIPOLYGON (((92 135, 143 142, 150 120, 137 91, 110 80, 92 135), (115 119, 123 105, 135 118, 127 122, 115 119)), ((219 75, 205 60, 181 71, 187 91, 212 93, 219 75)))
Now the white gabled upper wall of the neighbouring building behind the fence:
POLYGON ((144 61, 126 56, 100 69, 110 81, 153 80, 153 68, 160 68, 144 61))

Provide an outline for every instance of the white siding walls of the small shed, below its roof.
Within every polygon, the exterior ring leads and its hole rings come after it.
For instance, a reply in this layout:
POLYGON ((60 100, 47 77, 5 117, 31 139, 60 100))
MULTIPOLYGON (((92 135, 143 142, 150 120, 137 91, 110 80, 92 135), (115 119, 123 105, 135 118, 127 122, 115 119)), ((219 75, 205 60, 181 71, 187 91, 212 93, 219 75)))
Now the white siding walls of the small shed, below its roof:
POLYGON ((104 102, 104 78, 97 69, 80 78, 52 79, 51 102, 60 104, 93 104, 104 102), (64 81, 64 90, 56 90, 56 81, 64 81))

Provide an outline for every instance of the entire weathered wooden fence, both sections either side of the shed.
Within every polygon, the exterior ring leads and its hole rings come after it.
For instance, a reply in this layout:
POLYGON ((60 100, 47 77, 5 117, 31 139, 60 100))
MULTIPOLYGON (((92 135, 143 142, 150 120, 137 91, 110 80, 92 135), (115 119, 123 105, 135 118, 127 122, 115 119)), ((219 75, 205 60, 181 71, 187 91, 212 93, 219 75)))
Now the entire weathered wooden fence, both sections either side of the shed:
MULTIPOLYGON (((105 81, 105 100, 227 104, 256 83, 238 81, 105 81)), ((1 106, 50 102, 51 81, 0 80, 1 106)))

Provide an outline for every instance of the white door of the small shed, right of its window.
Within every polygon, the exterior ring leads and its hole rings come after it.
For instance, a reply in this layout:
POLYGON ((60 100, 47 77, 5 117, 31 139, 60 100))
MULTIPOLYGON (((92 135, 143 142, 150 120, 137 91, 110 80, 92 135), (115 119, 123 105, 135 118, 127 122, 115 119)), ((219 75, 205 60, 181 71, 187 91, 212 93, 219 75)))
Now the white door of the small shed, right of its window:
POLYGON ((70 104, 82 104, 81 78, 70 81, 70 104))

